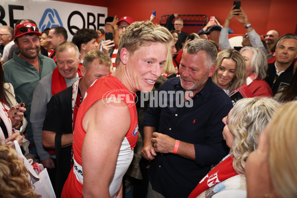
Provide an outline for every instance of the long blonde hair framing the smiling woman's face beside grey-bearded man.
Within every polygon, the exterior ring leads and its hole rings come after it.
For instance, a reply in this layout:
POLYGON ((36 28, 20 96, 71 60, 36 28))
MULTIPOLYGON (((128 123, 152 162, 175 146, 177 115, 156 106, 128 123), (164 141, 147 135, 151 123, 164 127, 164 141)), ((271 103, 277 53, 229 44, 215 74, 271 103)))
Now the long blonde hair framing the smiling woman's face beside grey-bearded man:
POLYGON ((246 62, 244 57, 235 49, 224 49, 220 51, 215 61, 215 71, 212 75, 212 81, 215 84, 218 84, 217 72, 225 58, 231 58, 236 62, 235 76, 229 86, 229 91, 233 92, 243 84, 246 84, 246 62))

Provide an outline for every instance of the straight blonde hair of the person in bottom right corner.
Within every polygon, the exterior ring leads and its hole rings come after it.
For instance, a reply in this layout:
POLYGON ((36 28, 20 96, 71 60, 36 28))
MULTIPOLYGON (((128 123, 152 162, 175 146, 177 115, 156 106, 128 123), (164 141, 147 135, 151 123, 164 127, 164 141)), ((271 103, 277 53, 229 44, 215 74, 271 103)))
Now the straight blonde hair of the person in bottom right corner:
POLYGON ((269 171, 276 192, 297 198, 297 101, 280 106, 269 124, 269 171))

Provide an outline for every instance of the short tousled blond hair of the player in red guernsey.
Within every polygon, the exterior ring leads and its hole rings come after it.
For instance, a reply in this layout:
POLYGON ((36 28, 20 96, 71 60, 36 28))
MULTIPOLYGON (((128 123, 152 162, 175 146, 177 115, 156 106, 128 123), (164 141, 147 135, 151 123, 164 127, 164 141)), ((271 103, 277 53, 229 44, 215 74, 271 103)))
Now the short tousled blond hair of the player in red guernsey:
POLYGON ((123 32, 115 63, 121 62, 121 50, 127 49, 131 55, 142 46, 150 46, 152 43, 163 43, 168 45, 173 42, 173 36, 164 27, 154 25, 150 21, 136 21, 129 25, 123 32))

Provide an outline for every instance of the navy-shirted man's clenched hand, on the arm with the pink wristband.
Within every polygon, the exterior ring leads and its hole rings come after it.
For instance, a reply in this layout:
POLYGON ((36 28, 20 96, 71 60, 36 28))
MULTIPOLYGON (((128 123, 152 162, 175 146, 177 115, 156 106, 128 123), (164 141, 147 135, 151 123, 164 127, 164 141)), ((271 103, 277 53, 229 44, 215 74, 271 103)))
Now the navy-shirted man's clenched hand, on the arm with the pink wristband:
POLYGON ((151 142, 153 143, 155 151, 163 153, 173 152, 176 142, 175 139, 157 132, 154 132, 152 136, 151 142))

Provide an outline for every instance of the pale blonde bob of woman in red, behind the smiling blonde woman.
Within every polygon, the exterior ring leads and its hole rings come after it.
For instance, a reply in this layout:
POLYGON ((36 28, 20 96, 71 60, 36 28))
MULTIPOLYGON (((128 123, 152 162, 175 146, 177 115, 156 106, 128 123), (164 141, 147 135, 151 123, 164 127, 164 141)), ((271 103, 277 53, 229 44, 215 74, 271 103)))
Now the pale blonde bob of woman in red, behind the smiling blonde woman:
POLYGON ((247 46, 241 49, 240 53, 242 54, 245 50, 251 50, 253 52, 253 56, 251 58, 251 69, 255 74, 254 79, 257 77, 265 79, 267 76, 268 63, 264 51, 262 49, 247 46))

